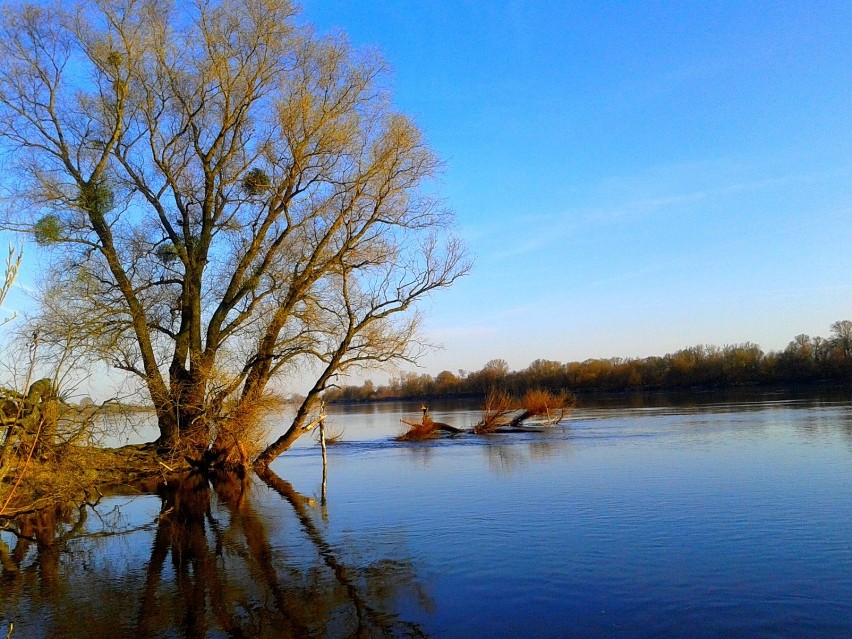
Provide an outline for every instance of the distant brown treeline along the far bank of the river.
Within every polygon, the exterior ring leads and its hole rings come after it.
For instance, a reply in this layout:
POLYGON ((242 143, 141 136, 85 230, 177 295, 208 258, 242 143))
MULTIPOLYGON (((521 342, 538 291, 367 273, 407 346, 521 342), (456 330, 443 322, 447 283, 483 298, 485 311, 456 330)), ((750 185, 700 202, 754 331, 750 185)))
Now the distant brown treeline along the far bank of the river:
POLYGON ((403 373, 386 386, 366 381, 326 391, 329 402, 483 396, 500 390, 520 396, 530 389, 637 391, 730 388, 749 385, 852 381, 852 321, 831 325, 831 336, 797 335, 781 352, 764 353, 746 342, 729 346, 693 346, 662 357, 588 359, 562 364, 537 359, 510 371, 494 359, 478 371, 403 373))

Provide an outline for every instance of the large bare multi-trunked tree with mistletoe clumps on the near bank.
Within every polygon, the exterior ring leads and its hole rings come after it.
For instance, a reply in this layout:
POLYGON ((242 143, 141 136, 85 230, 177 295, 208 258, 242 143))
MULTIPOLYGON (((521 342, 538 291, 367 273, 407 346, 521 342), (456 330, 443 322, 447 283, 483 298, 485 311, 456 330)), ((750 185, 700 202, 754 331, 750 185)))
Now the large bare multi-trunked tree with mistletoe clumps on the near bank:
POLYGON ((469 268, 382 61, 294 15, 286 0, 3 13, 7 227, 52 249, 50 295, 88 353, 143 383, 161 445, 208 460, 248 461, 237 422, 275 376, 320 371, 280 452, 336 373, 416 356, 416 321, 395 317, 469 268))

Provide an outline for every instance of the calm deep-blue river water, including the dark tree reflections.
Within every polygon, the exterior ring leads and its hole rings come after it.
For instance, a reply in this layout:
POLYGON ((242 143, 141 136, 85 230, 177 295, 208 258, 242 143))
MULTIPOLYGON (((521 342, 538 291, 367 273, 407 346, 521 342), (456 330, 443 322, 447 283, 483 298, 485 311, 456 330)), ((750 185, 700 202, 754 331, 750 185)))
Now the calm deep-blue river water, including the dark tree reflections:
POLYGON ((325 506, 304 441, 263 479, 2 533, 0 635, 852 636, 850 401, 581 408, 406 444, 400 417, 416 406, 331 413, 325 506))

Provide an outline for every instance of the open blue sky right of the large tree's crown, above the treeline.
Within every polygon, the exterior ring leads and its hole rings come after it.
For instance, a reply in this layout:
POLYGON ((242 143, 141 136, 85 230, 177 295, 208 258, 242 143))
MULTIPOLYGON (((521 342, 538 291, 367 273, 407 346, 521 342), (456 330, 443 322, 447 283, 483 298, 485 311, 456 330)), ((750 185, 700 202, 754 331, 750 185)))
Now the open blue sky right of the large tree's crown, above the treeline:
MULTIPOLYGON (((847 2, 304 0, 379 49, 475 256, 423 370, 778 350, 852 319, 847 2)), ((381 374, 376 375, 381 379, 381 374)))

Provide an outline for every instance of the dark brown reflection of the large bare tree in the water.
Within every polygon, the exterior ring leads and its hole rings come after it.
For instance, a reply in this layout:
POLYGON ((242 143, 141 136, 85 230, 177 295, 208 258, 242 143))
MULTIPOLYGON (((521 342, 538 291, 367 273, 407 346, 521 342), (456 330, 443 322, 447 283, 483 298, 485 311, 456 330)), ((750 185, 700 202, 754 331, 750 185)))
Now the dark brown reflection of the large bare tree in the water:
POLYGON ((356 565, 326 539, 314 500, 272 471, 260 478, 295 516, 275 535, 252 503, 256 484, 234 475, 160 485, 156 521, 130 532, 123 520, 90 530, 86 507, 18 519, 4 534, 14 541, 0 541, 0 634, 14 622, 13 637, 425 636, 394 612, 431 606, 410 562, 356 565), (150 543, 144 565, 129 551, 123 567, 99 555, 99 543, 138 535, 150 543))

